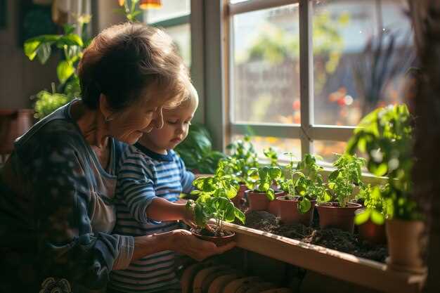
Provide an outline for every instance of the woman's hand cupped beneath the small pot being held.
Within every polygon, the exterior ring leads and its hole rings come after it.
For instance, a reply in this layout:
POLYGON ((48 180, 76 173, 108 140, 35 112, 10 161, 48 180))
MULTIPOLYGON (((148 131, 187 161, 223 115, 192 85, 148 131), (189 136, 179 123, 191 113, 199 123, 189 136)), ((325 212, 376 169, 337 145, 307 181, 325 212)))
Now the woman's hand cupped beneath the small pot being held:
POLYGON ((186 254, 197 261, 202 261, 214 254, 222 254, 235 246, 235 242, 230 242, 227 245, 217 247, 214 243, 200 240, 188 230, 181 229, 170 232, 167 240, 169 241, 169 250, 186 254))

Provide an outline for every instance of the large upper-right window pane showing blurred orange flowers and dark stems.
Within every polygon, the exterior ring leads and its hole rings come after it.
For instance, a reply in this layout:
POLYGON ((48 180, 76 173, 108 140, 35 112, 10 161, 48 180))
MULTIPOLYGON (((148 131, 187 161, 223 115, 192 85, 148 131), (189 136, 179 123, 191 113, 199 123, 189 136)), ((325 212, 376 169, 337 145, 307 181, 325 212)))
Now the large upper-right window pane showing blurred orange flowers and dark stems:
POLYGON ((402 102, 415 56, 405 8, 395 0, 313 1, 315 124, 356 125, 402 102))

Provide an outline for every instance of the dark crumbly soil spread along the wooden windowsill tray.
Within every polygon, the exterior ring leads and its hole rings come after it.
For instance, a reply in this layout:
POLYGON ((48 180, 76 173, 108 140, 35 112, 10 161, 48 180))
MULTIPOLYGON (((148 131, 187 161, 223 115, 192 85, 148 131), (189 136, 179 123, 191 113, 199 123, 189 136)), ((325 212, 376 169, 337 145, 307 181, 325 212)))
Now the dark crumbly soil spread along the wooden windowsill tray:
POLYGON ((245 226, 374 261, 384 262, 388 256, 386 246, 365 242, 356 233, 351 234, 336 228, 321 229, 318 221, 313 221, 312 227, 300 223, 283 224, 278 217, 267 211, 250 211, 246 214, 245 226))

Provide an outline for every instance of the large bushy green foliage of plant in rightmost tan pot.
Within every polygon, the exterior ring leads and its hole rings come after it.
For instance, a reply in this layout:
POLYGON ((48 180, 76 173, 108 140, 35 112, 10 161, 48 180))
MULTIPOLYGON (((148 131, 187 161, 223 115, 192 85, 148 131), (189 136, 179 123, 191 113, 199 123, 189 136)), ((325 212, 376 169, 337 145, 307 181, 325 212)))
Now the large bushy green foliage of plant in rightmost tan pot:
POLYGON ((406 105, 389 106, 365 116, 347 145, 347 152, 359 150, 367 155, 371 173, 388 176, 389 188, 381 194, 392 201, 389 214, 404 220, 420 219, 411 198, 412 132, 406 105))

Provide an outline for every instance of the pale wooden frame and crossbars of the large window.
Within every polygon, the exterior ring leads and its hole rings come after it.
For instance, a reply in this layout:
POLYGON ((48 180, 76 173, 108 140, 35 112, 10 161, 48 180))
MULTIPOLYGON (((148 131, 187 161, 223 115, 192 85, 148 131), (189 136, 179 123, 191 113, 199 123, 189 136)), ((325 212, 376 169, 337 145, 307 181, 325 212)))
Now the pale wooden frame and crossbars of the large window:
MULTIPOLYGON (((226 1, 226 0, 224 0, 226 1)), ((232 100, 233 93, 233 16, 259 11, 267 8, 276 8, 289 4, 299 6, 299 93, 301 124, 275 124, 275 123, 235 123, 232 119, 232 107, 227 109, 226 123, 229 126, 229 134, 226 137, 227 143, 232 135, 245 135, 247 128, 251 127, 255 136, 273 136, 278 138, 293 138, 301 141, 301 154, 313 153, 313 141, 344 141, 347 142, 356 126, 334 126, 314 124, 313 119, 313 2, 312 0, 247 0, 230 4, 227 2, 226 21, 230 30, 226 32, 228 44, 224 48, 226 56, 231 58, 225 63, 228 67, 225 70, 224 78, 230 91, 225 97, 232 100), (230 74, 226 74, 230 72, 230 74)), ((229 103, 231 104, 231 103, 229 103)), ((223 149, 224 150, 224 145, 223 149)))

